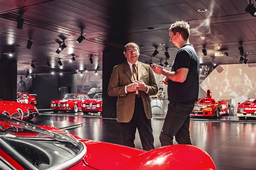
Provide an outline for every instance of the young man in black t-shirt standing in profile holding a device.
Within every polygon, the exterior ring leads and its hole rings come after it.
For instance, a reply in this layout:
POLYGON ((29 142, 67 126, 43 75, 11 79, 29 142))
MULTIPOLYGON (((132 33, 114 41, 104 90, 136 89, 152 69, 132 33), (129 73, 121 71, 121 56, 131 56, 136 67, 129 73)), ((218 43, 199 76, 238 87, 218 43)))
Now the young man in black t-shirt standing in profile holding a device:
POLYGON ((162 146, 173 145, 173 137, 179 144, 191 145, 189 135, 190 113, 193 111, 199 90, 199 62, 193 45, 189 44, 189 24, 176 21, 171 24, 170 41, 179 48, 171 71, 153 64, 153 71, 165 75, 168 83, 168 111, 159 139, 162 146))

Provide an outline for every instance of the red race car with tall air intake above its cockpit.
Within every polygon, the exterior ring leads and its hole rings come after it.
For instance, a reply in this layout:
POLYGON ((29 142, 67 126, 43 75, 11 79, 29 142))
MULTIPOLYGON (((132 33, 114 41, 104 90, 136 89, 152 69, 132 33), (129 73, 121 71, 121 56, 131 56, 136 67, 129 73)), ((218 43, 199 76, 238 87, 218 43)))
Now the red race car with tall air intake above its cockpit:
POLYGON ((198 99, 195 102, 195 107, 190 114, 190 117, 202 116, 216 116, 228 115, 230 112, 231 99, 229 100, 215 100, 212 98, 212 92, 207 90, 204 99, 198 99))

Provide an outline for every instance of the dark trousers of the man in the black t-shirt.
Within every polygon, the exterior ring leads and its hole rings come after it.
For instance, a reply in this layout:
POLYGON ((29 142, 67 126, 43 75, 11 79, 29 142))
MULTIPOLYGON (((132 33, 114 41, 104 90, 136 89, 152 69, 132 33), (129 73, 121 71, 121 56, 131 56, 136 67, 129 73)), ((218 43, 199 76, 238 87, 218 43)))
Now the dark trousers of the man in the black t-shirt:
POLYGON ((162 146, 173 145, 173 137, 179 144, 191 145, 189 135, 190 113, 194 104, 169 103, 164 125, 159 135, 162 146))

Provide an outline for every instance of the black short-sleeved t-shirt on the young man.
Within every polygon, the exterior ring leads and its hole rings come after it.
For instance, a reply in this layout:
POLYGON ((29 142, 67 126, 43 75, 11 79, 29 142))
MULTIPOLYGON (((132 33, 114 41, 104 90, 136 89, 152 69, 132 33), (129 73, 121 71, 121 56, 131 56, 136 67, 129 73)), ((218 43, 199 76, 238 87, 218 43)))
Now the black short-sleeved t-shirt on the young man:
POLYGON ((172 63, 171 71, 187 68, 187 79, 183 82, 169 80, 168 100, 183 104, 194 104, 198 99, 199 91, 199 62, 196 51, 191 44, 186 44, 179 49, 172 63))

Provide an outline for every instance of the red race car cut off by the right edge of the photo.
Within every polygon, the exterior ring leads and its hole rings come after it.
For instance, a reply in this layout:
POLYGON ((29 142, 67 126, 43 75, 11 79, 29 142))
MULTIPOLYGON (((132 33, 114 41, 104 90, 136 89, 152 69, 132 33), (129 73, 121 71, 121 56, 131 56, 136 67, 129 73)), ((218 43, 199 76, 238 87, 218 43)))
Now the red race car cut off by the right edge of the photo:
POLYGON ((238 103, 237 114, 239 119, 245 117, 256 117, 256 99, 247 99, 243 103, 238 103))

